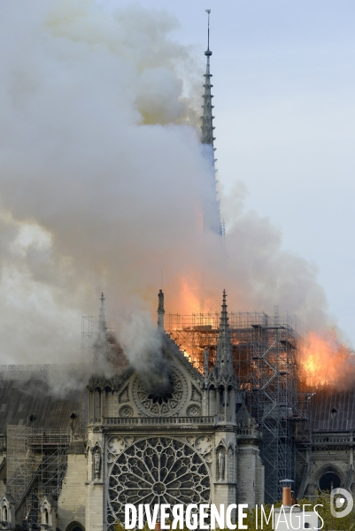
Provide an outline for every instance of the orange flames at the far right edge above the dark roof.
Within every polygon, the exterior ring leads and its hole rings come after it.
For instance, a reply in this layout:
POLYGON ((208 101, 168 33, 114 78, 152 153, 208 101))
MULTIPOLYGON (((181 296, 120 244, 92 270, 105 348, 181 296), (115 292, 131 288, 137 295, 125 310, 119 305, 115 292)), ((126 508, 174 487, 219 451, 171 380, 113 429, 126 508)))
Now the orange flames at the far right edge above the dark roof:
POLYGON ((355 356, 331 330, 310 332, 300 351, 305 386, 334 386, 343 389, 355 381, 355 356))

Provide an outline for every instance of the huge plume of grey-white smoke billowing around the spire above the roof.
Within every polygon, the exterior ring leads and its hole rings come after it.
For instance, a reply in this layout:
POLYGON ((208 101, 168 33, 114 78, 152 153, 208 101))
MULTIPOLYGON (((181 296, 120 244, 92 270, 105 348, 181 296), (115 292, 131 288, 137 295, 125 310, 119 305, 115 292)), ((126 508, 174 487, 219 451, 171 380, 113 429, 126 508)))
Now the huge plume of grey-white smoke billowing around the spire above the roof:
POLYGON ((243 211, 241 187, 222 196, 227 252, 203 233, 214 200, 197 119, 204 65, 175 27, 138 6, 1 4, 2 363, 78 360, 81 313, 97 314, 104 290, 131 362, 159 370, 147 316, 162 277, 170 312, 216 311, 226 288, 229 309, 280 304, 328 324, 316 267, 243 211))

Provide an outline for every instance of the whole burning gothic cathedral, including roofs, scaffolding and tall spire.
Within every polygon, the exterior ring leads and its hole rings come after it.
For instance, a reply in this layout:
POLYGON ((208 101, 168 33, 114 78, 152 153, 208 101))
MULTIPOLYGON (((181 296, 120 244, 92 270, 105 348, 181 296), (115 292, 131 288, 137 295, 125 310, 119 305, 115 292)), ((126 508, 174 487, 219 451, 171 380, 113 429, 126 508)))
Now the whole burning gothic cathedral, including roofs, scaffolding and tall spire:
MULTIPOLYGON (((215 181, 209 41, 205 56, 201 140, 215 181)), ((205 223, 223 236, 217 200, 205 223)), ((84 338, 91 375, 71 366, 78 387, 61 397, 58 366, 0 366, 0 528, 114 531, 126 504, 252 507, 279 500, 285 480, 297 499, 353 492, 355 393, 299 392, 297 333, 276 312, 228 312, 224 291, 220 314, 193 319, 166 327, 160 290, 161 349, 137 372, 102 296, 84 338)))

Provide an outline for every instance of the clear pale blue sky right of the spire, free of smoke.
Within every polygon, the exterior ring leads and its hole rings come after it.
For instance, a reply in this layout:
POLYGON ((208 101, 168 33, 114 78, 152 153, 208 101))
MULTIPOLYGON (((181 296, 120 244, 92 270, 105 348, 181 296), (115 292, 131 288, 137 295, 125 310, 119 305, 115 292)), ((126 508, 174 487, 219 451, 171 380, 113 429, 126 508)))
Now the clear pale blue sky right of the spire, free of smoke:
POLYGON ((194 46, 203 61, 205 9, 212 9, 220 182, 228 193, 243 181, 246 207, 282 227, 285 249, 317 264, 329 311, 355 343, 355 4, 143 5, 174 13, 181 21, 176 38, 194 46))

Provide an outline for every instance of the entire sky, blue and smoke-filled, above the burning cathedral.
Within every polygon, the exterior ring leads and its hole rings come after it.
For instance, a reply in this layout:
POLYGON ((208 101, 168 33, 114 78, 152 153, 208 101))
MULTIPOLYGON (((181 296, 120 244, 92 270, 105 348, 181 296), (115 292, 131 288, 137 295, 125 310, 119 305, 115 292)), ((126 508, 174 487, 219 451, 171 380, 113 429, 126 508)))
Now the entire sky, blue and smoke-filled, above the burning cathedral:
POLYGON ((0 0, 0 363, 77 359, 102 291, 136 358, 159 287, 167 312, 227 289, 355 345, 354 11, 0 0), (207 8, 227 254, 202 232, 207 8))

